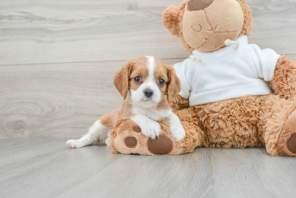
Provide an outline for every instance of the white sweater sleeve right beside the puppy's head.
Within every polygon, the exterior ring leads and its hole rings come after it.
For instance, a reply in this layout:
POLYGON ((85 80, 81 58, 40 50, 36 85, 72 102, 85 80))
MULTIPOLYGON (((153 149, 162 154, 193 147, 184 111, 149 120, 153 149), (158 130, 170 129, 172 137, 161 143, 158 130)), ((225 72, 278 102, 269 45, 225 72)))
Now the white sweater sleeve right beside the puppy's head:
POLYGON ((177 76, 179 77, 180 81, 181 81, 181 91, 179 93, 179 96, 188 99, 190 96, 190 91, 191 91, 191 86, 188 84, 186 73, 188 70, 188 64, 187 61, 184 60, 181 63, 176 63, 174 65, 175 68, 175 72, 177 74, 177 76))

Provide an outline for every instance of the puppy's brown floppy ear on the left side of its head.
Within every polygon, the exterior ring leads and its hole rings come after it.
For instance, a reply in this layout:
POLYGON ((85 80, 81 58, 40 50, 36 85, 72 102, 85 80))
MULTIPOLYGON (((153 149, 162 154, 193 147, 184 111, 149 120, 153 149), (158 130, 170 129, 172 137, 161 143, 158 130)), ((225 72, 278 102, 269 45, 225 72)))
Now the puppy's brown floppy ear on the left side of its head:
POLYGON ((128 82, 133 66, 134 61, 127 60, 121 70, 116 72, 116 75, 114 76, 114 85, 124 99, 127 97, 128 82))

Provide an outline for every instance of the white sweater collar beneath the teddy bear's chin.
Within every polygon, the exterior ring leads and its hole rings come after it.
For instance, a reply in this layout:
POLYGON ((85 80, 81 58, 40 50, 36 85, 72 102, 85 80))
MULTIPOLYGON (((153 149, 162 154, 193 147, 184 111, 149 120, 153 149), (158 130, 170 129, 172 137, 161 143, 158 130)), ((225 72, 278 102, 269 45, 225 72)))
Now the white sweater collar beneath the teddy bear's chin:
MULTIPOLYGON (((235 41, 240 43, 240 47, 243 45, 248 44, 248 37, 246 35, 238 37, 235 41)), ((197 56, 203 59, 213 58, 214 56, 221 56, 224 54, 228 54, 231 51, 235 50, 236 45, 227 45, 225 47, 221 47, 219 50, 213 51, 213 52, 200 52, 198 50, 193 50, 192 55, 197 56)), ((239 48, 240 49, 240 48, 239 48)))

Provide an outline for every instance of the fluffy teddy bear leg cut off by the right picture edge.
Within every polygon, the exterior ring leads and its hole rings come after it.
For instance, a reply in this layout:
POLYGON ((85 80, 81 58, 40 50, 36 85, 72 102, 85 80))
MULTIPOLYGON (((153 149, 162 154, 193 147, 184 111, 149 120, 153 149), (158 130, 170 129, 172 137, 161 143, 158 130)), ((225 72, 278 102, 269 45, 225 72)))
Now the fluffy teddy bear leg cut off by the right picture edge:
POLYGON ((273 156, 296 156, 295 103, 277 95, 266 98, 258 129, 262 131, 267 152, 273 156))

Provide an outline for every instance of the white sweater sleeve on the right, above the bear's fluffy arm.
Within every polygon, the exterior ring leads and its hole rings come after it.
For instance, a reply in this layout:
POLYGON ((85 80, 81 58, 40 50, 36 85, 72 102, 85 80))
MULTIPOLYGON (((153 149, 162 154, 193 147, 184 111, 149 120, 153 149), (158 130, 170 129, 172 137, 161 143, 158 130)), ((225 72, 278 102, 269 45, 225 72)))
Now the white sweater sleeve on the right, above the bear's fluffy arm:
POLYGON ((278 62, 278 59, 281 57, 281 55, 277 54, 272 49, 267 48, 261 50, 258 45, 251 45, 255 50, 253 60, 255 62, 255 67, 258 72, 258 76, 260 78, 263 78, 265 81, 270 82, 275 72, 275 65, 278 62))

